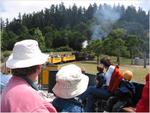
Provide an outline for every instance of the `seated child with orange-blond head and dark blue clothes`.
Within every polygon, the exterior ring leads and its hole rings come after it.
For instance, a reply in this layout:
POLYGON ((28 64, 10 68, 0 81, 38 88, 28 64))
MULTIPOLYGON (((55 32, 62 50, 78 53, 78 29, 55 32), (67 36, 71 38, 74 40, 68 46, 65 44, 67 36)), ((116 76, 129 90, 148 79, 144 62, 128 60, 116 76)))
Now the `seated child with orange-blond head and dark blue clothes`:
POLYGON ((106 111, 119 112, 123 107, 132 105, 132 98, 135 95, 135 87, 130 82, 132 77, 133 73, 129 70, 123 73, 119 88, 107 100, 106 111))

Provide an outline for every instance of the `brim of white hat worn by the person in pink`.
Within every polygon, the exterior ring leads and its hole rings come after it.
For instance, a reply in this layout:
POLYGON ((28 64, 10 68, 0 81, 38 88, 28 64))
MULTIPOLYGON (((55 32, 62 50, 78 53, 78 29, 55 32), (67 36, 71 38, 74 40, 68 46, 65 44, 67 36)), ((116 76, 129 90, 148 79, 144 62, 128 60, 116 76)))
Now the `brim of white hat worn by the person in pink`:
POLYGON ((6 66, 10 69, 25 68, 34 65, 44 64, 47 60, 48 60, 48 55, 43 53, 36 56, 35 58, 26 59, 26 60, 13 59, 13 54, 11 54, 6 62, 6 66))

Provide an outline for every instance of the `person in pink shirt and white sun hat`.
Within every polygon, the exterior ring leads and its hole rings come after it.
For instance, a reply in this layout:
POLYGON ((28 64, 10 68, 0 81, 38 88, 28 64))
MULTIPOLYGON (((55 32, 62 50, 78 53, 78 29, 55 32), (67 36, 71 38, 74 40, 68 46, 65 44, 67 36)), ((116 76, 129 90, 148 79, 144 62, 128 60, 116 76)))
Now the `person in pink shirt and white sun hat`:
POLYGON ((48 55, 41 52, 35 40, 15 43, 6 62, 13 76, 2 93, 2 112, 56 112, 52 104, 38 93, 34 84, 47 58, 48 55))

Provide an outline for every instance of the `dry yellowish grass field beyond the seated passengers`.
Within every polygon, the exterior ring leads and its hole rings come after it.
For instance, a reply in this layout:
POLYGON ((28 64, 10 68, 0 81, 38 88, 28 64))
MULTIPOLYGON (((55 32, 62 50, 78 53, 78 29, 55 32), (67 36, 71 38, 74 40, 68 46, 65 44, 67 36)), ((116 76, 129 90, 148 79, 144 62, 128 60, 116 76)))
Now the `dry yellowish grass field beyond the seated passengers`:
MULTIPOLYGON (((87 73, 91 74, 96 74, 96 61, 76 61, 76 62, 71 62, 72 64, 76 64, 81 68, 85 68, 85 71, 87 73)), ((126 59, 122 62, 120 70, 123 72, 124 70, 131 70, 134 74, 132 81, 140 82, 140 83, 145 83, 145 75, 149 72, 149 66, 147 68, 143 68, 143 66, 137 66, 137 65, 130 65, 129 60, 126 59)), ((64 66, 70 63, 65 63, 65 64, 59 64, 59 66, 64 66)))

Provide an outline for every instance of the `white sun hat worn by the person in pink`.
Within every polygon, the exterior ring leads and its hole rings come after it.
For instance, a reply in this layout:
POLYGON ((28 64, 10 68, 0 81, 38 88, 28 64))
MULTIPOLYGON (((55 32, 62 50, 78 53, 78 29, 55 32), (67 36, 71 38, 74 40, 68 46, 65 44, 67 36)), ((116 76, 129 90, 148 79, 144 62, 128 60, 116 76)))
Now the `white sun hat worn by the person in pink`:
POLYGON ((36 40, 23 40, 16 42, 6 66, 11 69, 25 68, 44 64, 48 55, 41 52, 36 40))

